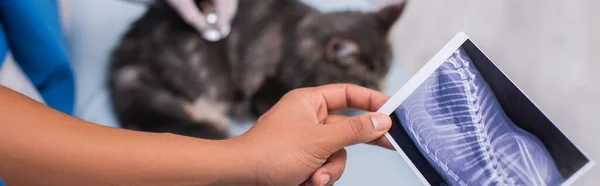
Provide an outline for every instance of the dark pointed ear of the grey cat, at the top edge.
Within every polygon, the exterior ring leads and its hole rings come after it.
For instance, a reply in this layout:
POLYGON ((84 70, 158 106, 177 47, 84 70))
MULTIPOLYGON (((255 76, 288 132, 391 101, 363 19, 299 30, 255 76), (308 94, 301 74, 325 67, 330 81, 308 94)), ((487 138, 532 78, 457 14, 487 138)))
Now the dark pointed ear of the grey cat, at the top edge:
POLYGON ((384 33, 388 33, 404 11, 406 1, 387 5, 375 13, 375 21, 384 33))

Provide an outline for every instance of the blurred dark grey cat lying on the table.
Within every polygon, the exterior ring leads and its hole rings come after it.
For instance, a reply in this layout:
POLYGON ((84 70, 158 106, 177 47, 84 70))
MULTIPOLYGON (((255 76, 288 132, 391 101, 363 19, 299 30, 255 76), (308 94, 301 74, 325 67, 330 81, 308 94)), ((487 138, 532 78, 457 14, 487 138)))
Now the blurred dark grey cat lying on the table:
POLYGON ((230 35, 208 42, 156 1, 112 51, 114 112, 125 129, 226 139, 229 116, 256 118, 296 88, 381 90, 403 8, 324 13, 296 0, 240 0, 230 35))

